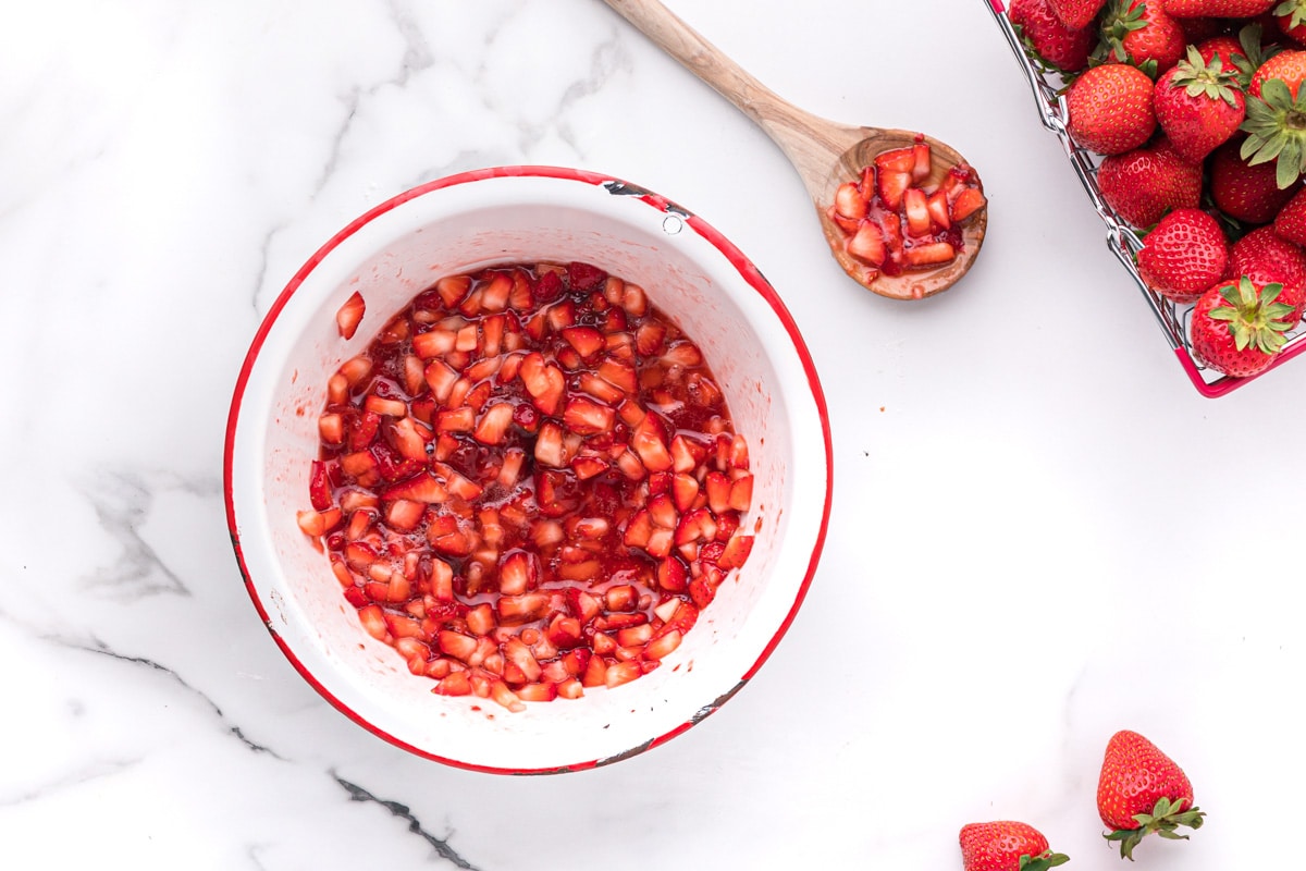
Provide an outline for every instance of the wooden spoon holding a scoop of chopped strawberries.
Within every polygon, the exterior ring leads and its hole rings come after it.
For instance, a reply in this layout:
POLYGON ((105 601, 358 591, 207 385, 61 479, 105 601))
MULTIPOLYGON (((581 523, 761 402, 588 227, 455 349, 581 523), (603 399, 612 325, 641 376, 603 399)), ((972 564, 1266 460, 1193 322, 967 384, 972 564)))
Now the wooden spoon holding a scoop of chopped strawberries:
MULTIPOLYGON (((875 127, 845 127, 806 112, 768 90, 657 0, 605 0, 605 3, 690 72, 712 85, 780 146, 798 170, 803 187, 812 197, 835 260, 857 283, 882 296, 922 299, 947 290, 970 269, 983 243, 989 219, 987 208, 966 219, 961 251, 952 261, 934 269, 910 270, 899 276, 882 273, 871 281, 866 279, 866 264, 845 252, 844 231, 827 214, 840 184, 857 180, 862 167, 868 166, 876 154, 913 145, 917 133, 875 127)), ((923 136, 923 141, 930 144, 932 167, 930 179, 922 187, 938 184, 949 168, 966 162, 957 151, 934 137, 923 136)), ((980 184, 980 175, 973 167, 972 179, 980 184)))

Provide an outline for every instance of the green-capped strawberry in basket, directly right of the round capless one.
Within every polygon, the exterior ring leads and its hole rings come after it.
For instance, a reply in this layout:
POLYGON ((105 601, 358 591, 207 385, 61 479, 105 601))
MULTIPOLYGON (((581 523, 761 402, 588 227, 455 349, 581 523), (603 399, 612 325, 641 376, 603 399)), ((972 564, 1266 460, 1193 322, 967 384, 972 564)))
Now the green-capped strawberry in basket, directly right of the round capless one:
POLYGON ((1238 131, 1246 103, 1237 69, 1218 57, 1202 60, 1195 46, 1156 82, 1153 108, 1174 150, 1198 163, 1238 131))

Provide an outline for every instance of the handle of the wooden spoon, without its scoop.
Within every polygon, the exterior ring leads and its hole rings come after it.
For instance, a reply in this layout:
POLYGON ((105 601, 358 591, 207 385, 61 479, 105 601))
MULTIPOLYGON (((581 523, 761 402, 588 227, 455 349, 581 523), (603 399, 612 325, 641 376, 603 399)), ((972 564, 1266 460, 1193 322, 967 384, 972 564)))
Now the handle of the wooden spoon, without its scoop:
POLYGON ((832 124, 777 97, 657 0, 605 3, 751 118, 785 151, 804 182, 810 172, 828 172, 829 154, 840 154, 859 138, 857 128, 832 124))

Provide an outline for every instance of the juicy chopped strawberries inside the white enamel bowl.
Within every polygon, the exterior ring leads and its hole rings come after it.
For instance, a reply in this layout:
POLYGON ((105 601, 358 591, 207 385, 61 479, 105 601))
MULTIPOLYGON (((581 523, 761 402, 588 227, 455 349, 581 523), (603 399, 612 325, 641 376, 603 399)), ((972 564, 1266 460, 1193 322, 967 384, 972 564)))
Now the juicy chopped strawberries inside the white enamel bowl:
POLYGON ((326 394, 299 526, 434 692, 521 710, 633 680, 752 547, 748 447, 701 353, 588 264, 441 278, 326 394))

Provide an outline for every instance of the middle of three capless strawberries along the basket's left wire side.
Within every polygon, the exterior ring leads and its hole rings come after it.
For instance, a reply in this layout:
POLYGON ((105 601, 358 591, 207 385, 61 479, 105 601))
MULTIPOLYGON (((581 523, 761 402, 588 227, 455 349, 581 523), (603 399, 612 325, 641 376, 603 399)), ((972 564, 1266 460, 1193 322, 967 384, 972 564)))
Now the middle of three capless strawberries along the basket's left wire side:
POLYGON ((1175 154, 1166 140, 1117 154, 1097 170, 1102 198, 1135 227, 1149 227, 1170 209, 1196 209, 1202 166, 1175 154))

